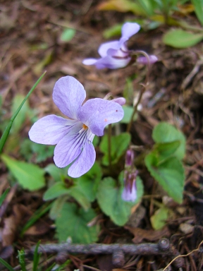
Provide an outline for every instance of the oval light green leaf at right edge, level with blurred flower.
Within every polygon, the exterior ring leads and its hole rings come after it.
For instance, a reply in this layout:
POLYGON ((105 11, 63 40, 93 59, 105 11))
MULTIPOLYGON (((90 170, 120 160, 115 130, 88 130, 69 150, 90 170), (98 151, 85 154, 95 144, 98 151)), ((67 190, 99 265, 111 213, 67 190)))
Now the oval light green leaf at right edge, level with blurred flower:
POLYGON ((203 33, 192 33, 181 29, 173 29, 166 32, 163 42, 175 48, 192 47, 201 42, 203 33))

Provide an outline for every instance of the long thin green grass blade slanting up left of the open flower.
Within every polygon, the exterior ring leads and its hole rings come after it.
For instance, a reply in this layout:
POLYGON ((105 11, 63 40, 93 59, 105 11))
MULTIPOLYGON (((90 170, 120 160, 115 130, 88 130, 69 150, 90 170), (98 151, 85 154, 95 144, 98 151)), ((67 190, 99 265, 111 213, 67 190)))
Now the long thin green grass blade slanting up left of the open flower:
POLYGON ((0 139, 0 153, 6 143, 6 140, 8 138, 8 135, 11 131, 11 127, 13 125, 13 121, 14 119, 16 119, 16 116, 18 115, 18 113, 20 112, 20 109, 23 107, 23 104, 25 104, 25 101, 28 99, 28 97, 30 96, 30 94, 32 93, 33 90, 35 90, 35 88, 37 87, 37 85, 39 84, 39 82, 42 80, 42 78, 44 77, 46 71, 42 74, 42 76, 39 77, 39 79, 37 80, 37 82, 35 83, 35 85, 33 85, 33 87, 31 88, 31 90, 27 93, 25 99, 23 100, 23 102, 20 104, 20 107, 18 107, 18 109, 16 110, 16 112, 13 114, 13 116, 11 116, 10 122, 8 124, 8 126, 6 126, 6 129, 4 130, 3 135, 1 136, 0 139))

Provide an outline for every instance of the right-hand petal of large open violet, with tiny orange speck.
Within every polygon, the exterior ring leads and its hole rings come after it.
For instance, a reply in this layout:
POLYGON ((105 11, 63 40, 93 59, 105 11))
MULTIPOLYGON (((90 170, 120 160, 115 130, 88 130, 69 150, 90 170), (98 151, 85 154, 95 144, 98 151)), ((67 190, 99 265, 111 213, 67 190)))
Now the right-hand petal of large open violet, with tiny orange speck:
POLYGON ((82 105, 78 117, 95 135, 104 135, 104 127, 123 119, 123 108, 116 102, 95 98, 82 105))

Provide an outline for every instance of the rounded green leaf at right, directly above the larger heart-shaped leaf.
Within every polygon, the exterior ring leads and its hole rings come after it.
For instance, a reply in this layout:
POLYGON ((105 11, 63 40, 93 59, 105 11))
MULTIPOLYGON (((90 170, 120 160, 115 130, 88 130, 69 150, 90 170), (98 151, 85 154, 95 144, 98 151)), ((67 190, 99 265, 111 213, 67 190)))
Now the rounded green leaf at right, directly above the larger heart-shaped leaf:
MULTIPOLYGON (((167 124, 166 122, 160 122, 160 124, 154 127, 152 138, 154 139, 156 143, 172 143, 171 149, 173 150, 174 150, 174 147, 176 148, 176 144, 177 144, 177 143, 174 143, 173 145, 173 142, 179 141, 180 146, 177 148, 175 152, 173 152, 173 154, 178 159, 183 159, 183 157, 185 156, 185 135, 173 125, 167 124)), ((164 145, 162 145, 162 147, 164 147, 164 145)))

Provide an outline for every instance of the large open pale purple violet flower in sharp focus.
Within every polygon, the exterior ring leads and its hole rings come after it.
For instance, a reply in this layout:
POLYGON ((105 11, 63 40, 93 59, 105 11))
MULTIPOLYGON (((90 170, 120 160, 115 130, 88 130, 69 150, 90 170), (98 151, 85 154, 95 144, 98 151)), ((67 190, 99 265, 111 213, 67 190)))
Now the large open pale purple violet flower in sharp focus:
POLYGON ((96 152, 92 145, 94 135, 104 135, 104 127, 123 119, 124 98, 87 100, 82 84, 72 76, 60 78, 54 85, 53 100, 69 119, 49 115, 39 119, 30 129, 30 140, 56 145, 54 162, 66 167, 68 175, 77 178, 94 164, 96 152), (120 105, 121 104, 121 105, 120 105))

